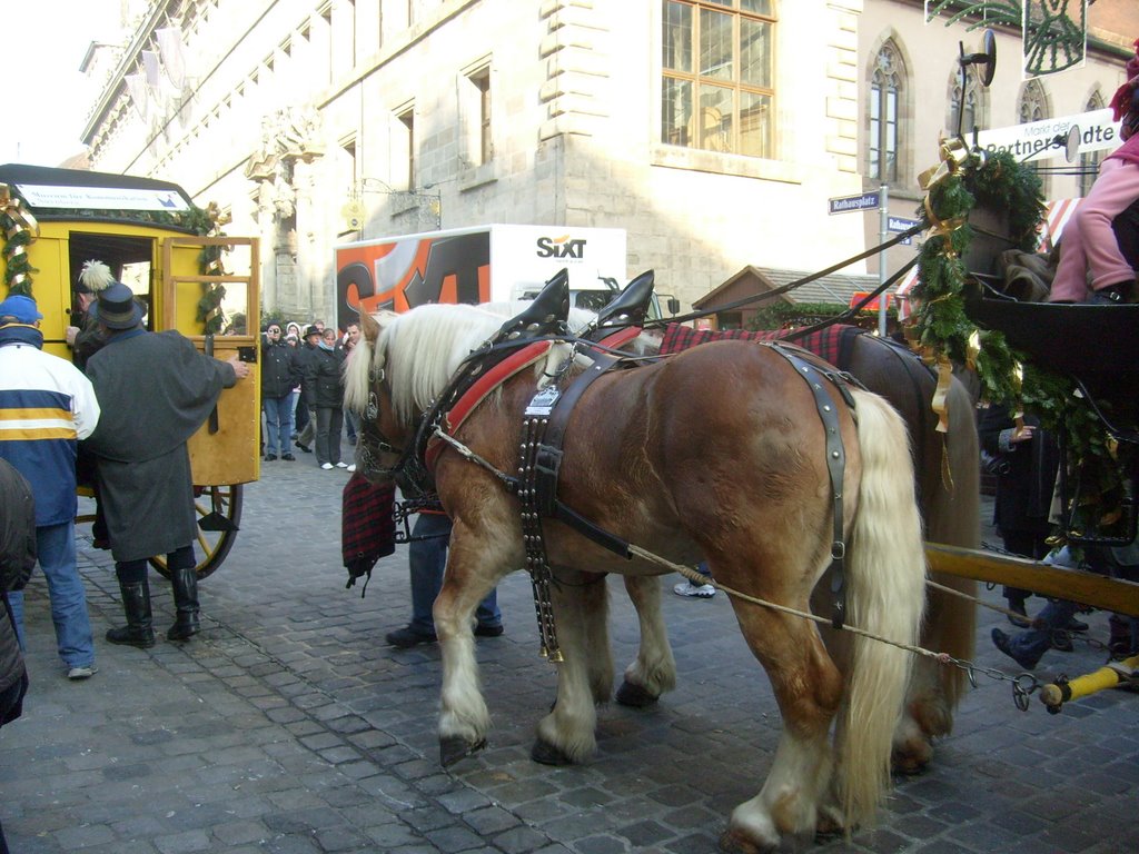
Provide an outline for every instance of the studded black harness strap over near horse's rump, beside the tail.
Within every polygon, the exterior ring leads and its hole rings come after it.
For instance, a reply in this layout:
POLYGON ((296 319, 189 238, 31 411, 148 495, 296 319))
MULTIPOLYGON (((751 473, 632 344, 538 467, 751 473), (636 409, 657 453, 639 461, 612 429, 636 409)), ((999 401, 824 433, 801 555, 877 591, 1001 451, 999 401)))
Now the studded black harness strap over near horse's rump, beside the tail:
POLYGON ((811 394, 814 396, 814 407, 819 413, 819 419, 822 421, 822 429, 827 441, 827 473, 830 476, 830 495, 834 511, 833 537, 830 541, 830 567, 834 572, 831 574, 830 592, 834 593, 835 602, 830 615, 830 625, 835 629, 842 629, 846 622, 846 578, 844 573, 846 542, 843 536, 843 475, 846 467, 846 449, 843 446, 835 400, 830 396, 830 392, 827 391, 826 385, 820 380, 823 377, 829 379, 838 388, 839 394, 843 395, 844 401, 851 408, 854 405, 854 399, 851 396, 850 389, 843 384, 839 373, 819 369, 784 344, 771 343, 768 346, 790 362, 792 367, 795 368, 795 372, 806 383, 808 388, 811 389, 811 394))

